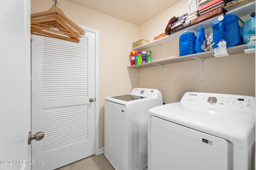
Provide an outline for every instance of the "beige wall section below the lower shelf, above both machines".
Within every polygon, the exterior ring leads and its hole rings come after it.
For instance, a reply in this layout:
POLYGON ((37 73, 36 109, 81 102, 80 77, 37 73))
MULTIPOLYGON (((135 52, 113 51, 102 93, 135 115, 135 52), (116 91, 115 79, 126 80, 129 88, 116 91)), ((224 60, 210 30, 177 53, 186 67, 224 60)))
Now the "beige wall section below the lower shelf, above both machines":
POLYGON ((178 102, 185 92, 210 92, 255 96, 255 55, 230 55, 204 59, 203 82, 199 61, 140 68, 139 87, 156 87, 167 103, 178 102))

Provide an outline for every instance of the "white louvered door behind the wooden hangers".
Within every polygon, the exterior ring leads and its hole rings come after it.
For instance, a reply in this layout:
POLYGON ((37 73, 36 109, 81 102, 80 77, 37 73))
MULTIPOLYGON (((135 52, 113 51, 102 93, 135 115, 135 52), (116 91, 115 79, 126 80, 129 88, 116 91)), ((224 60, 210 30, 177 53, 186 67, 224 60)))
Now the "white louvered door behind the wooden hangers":
POLYGON ((32 36, 32 170, 53 170, 95 153, 95 34, 79 44, 32 36), (44 164, 37 164, 43 161, 44 164))

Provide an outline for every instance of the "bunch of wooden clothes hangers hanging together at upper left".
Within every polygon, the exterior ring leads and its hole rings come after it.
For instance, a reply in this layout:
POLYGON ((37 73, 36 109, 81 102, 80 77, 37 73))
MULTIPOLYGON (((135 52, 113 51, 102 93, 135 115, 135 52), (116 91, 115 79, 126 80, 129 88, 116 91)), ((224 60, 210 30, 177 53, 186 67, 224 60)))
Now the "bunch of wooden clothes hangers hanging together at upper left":
POLYGON ((54 0, 50 10, 30 15, 31 34, 79 43, 84 29, 66 17, 57 4, 54 0))

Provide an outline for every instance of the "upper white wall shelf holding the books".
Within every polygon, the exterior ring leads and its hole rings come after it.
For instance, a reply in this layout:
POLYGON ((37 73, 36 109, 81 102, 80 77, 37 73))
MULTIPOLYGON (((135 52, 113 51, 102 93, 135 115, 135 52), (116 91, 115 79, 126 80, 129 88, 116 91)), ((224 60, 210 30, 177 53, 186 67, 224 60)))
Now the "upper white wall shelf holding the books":
MULTIPOLYGON (((239 8, 236 8, 234 10, 231 10, 229 12, 226 12, 226 14, 235 14, 238 17, 242 17, 242 16, 246 16, 248 14, 251 14, 252 12, 255 12, 255 1, 254 2, 250 2, 249 4, 246 4, 244 6, 241 6, 239 8)), ((189 32, 195 32, 197 31, 200 27, 204 27, 205 29, 212 27, 212 22, 214 20, 216 20, 219 16, 216 16, 214 18, 210 18, 209 20, 200 22, 196 25, 192 25, 186 29, 183 29, 182 31, 178 31, 176 33, 173 33, 171 35, 168 35, 166 37, 160 38, 156 41, 152 41, 149 43, 146 43, 142 46, 136 47, 134 49, 132 49, 132 51, 143 51, 144 49, 148 49, 150 47, 155 47, 157 45, 160 44, 164 44, 167 43, 169 41, 173 41, 175 39, 178 39, 180 37, 180 35, 184 32, 184 31, 189 31, 189 32)))

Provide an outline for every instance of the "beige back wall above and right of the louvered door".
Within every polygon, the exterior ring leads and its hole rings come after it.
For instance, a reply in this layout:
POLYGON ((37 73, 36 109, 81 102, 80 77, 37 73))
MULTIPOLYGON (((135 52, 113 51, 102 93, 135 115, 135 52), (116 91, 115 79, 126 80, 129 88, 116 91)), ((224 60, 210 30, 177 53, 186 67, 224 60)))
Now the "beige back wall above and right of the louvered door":
MULTIPOLYGON (((52 6, 51 0, 31 0, 31 11, 42 12, 52 6)), ((129 51, 132 43, 138 41, 138 25, 78 6, 66 0, 59 8, 79 25, 99 30, 99 148, 104 147, 104 98, 130 93, 138 86, 138 74, 129 73, 129 51)))

